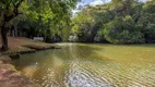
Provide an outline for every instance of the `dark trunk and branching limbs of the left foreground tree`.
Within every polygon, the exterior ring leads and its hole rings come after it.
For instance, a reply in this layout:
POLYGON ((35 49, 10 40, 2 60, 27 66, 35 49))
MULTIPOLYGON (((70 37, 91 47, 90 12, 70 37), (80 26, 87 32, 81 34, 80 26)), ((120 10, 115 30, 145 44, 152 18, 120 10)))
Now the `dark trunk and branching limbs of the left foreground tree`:
POLYGON ((19 8, 24 0, 1 0, 0 1, 0 28, 2 39, 2 50, 8 50, 7 24, 19 14, 19 8))

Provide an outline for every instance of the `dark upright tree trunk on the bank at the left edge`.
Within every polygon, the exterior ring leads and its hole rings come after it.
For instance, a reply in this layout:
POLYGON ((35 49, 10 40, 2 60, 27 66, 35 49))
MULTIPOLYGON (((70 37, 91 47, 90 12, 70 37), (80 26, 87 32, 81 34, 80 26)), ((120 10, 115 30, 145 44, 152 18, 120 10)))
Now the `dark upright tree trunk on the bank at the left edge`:
POLYGON ((3 51, 8 50, 8 37, 7 37, 7 29, 4 25, 1 26, 1 40, 2 40, 2 47, 1 49, 3 51))

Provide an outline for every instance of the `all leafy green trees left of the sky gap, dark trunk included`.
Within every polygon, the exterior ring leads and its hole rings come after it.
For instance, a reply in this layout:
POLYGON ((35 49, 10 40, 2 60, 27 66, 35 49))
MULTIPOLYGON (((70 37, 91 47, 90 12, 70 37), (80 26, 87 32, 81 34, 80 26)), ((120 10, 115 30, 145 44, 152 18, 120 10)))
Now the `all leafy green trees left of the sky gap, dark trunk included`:
POLYGON ((76 0, 1 0, 2 50, 8 50, 7 34, 36 37, 63 36, 70 27, 71 9, 76 0), (62 30, 63 29, 63 30, 62 30))

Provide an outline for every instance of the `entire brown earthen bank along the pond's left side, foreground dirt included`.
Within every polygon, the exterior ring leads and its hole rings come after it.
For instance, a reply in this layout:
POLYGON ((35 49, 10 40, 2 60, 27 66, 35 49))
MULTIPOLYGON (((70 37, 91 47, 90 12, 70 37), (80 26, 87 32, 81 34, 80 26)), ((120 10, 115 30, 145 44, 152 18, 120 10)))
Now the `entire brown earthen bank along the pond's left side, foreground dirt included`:
POLYGON ((58 48, 52 44, 35 41, 24 37, 10 37, 9 41, 9 50, 0 51, 0 87, 40 87, 17 71, 11 64, 11 61, 12 59, 20 59, 20 54, 58 48))

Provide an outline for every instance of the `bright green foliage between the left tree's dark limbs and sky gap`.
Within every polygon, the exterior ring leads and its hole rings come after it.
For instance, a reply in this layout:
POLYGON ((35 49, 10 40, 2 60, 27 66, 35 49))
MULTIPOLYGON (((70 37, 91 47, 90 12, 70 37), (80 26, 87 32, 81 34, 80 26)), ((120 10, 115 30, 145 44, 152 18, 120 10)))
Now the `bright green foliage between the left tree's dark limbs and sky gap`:
MULTIPOLYGON (((71 9, 76 0, 33 0, 22 3, 25 20, 19 20, 17 28, 23 28, 27 37, 55 35, 68 38, 71 9), (70 2, 68 2, 70 1, 70 2)), ((13 26, 15 24, 12 24, 13 26)))

